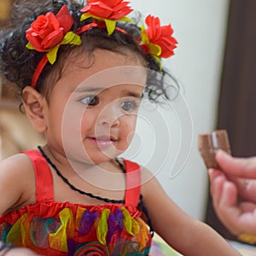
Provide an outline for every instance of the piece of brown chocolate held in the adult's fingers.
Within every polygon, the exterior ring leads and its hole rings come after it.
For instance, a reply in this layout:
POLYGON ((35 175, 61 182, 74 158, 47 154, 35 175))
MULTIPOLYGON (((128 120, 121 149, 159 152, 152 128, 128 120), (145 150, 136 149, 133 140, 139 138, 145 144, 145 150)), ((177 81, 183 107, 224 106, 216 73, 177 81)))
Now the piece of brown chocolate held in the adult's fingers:
POLYGON ((222 149, 230 154, 230 141, 226 130, 217 130, 212 133, 198 136, 198 149, 207 168, 219 169, 215 154, 222 149))

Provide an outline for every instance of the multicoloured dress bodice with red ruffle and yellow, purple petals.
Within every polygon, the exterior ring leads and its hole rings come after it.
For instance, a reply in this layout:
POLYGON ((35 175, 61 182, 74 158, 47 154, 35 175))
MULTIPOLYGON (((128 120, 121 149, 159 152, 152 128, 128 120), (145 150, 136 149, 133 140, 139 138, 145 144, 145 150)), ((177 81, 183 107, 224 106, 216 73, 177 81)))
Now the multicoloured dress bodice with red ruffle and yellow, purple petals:
POLYGON ((22 207, 1 218, 1 239, 43 255, 148 255, 151 235, 136 208, 70 206, 22 207))

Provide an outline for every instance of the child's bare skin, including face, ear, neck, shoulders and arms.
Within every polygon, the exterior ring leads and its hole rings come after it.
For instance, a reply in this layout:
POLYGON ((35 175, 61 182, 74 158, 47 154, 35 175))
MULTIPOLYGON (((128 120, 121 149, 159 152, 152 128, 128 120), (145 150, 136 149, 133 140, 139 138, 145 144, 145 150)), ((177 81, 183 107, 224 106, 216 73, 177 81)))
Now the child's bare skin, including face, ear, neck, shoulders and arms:
MULTIPOLYGON (((105 196, 107 193, 108 198, 120 200, 125 195, 125 177, 113 157, 129 146, 136 128, 137 103, 140 102, 146 76, 142 72, 137 76, 137 83, 131 80, 129 84, 114 83, 113 87, 105 84, 105 80, 113 76, 103 76, 105 79, 91 83, 89 78, 102 70, 120 66, 143 67, 134 55, 127 57, 102 49, 96 49, 94 54, 95 62, 90 67, 79 68, 73 63, 67 65, 49 99, 27 86, 23 91, 23 103, 33 128, 46 137, 44 151, 70 183, 94 195, 105 196), (80 87, 88 79, 89 83, 84 88, 80 87), (86 105, 91 95, 97 100, 90 98, 90 104, 86 105), (73 140, 66 137, 67 134, 73 140), (76 143, 80 143, 80 147, 75 148, 76 143), (106 184, 106 179, 98 175, 102 171, 119 175, 114 175, 106 184), (91 173, 96 173, 96 178, 91 179, 91 173), (119 187, 115 187, 116 184, 119 187)), ((134 78, 134 73, 131 76, 127 67, 124 70, 120 78, 125 75, 134 78)), ((35 203, 32 164, 25 154, 3 160, 0 170, 0 194, 5 195, 0 199, 0 213, 35 203)), ((52 175, 55 201, 102 204, 102 201, 69 189, 55 172, 52 175)), ((154 230, 169 245, 184 255, 240 255, 214 230, 177 207, 157 179, 143 167, 142 180, 143 199, 154 230)))

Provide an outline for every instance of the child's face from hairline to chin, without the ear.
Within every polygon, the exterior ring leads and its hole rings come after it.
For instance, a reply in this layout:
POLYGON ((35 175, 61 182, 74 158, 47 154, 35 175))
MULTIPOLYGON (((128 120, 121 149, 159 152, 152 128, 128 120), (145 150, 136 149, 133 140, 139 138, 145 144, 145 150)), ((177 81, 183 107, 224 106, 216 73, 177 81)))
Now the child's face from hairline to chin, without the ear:
POLYGON ((136 128, 146 69, 136 56, 96 49, 69 63, 49 98, 46 137, 70 160, 102 163, 123 153, 136 128), (87 67, 86 67, 87 66, 87 67))

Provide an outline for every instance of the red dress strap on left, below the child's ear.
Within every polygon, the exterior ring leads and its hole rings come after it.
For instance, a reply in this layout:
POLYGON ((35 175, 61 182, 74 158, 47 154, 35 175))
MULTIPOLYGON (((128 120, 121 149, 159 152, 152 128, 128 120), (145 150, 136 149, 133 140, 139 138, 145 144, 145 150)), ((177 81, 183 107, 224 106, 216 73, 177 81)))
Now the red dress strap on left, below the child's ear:
POLYGON ((53 178, 47 161, 38 150, 26 150, 21 153, 27 154, 32 161, 36 177, 37 201, 54 201, 53 178))

